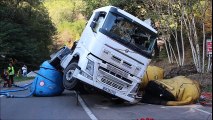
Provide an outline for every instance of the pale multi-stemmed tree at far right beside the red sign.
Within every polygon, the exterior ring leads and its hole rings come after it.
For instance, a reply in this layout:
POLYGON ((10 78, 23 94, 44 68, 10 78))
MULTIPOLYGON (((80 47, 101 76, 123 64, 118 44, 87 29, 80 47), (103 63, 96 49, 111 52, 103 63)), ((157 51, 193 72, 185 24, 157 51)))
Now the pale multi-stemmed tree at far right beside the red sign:
POLYGON ((184 14, 184 23, 187 29, 188 39, 192 49, 193 60, 196 69, 199 73, 206 72, 205 70, 205 41, 206 41, 206 18, 207 10, 211 7, 211 1, 201 0, 196 1, 192 6, 191 1, 184 2, 186 12, 184 14), (203 44, 203 49, 200 49, 200 43, 203 44), (202 56, 202 58, 201 58, 202 56), (202 59, 202 60, 201 60, 202 59))

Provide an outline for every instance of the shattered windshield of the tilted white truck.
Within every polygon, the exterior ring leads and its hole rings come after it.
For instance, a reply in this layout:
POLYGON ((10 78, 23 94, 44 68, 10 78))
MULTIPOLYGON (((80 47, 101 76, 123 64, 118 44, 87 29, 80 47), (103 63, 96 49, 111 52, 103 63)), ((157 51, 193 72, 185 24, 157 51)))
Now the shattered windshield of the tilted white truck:
POLYGON ((114 39, 119 39, 127 46, 137 47, 148 53, 153 50, 156 36, 145 31, 144 26, 131 22, 125 17, 109 13, 103 29, 112 34, 114 39))

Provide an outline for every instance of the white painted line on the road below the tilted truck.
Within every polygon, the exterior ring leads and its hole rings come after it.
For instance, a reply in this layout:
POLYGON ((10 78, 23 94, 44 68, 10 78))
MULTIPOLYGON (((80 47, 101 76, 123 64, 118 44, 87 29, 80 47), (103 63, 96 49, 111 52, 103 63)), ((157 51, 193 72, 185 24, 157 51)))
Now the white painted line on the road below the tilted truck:
POLYGON ((87 105, 85 104, 85 102, 83 101, 83 99, 81 98, 80 95, 78 95, 78 101, 80 102, 81 106, 83 107, 83 109, 85 110, 85 112, 87 113, 87 115, 92 119, 92 120, 98 120, 95 115, 92 113, 92 111, 87 107, 87 105))

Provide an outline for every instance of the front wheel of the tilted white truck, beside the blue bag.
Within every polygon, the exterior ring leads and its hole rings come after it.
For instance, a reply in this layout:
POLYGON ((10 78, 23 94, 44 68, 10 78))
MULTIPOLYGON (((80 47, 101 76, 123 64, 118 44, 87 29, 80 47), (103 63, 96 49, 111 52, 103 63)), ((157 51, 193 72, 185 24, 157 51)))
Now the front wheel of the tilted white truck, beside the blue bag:
POLYGON ((77 66, 77 62, 74 61, 64 71, 63 85, 67 90, 74 90, 77 86, 79 80, 73 77, 73 73, 77 66))

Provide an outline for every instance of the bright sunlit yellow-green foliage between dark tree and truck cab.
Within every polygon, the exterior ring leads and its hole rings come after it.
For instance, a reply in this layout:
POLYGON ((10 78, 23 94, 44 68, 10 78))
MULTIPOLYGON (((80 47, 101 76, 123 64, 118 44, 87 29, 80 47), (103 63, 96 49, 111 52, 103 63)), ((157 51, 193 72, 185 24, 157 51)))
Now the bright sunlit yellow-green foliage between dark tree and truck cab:
POLYGON ((57 43, 61 43, 62 46, 64 44, 69 46, 69 44, 80 38, 86 24, 85 17, 81 14, 85 8, 83 1, 46 0, 44 5, 47 7, 52 21, 57 27, 57 43))

